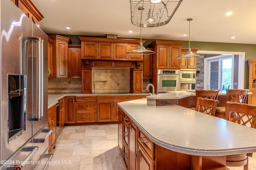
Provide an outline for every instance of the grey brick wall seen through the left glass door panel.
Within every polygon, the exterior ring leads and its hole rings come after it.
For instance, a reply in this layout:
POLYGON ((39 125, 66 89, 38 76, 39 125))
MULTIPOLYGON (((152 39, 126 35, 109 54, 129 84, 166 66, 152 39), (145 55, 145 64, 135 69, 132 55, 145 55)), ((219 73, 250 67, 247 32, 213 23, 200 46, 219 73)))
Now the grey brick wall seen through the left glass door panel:
POLYGON ((218 76, 219 76, 219 62, 214 61, 211 62, 210 66, 210 90, 218 89, 218 76))

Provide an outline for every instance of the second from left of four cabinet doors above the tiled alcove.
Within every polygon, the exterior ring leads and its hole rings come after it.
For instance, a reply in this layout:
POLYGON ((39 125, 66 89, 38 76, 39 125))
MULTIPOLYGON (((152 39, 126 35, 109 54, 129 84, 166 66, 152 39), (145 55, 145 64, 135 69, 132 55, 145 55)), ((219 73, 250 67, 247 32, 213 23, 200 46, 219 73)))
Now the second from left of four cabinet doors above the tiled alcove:
POLYGON ((98 43, 98 59, 113 60, 113 43, 98 43))

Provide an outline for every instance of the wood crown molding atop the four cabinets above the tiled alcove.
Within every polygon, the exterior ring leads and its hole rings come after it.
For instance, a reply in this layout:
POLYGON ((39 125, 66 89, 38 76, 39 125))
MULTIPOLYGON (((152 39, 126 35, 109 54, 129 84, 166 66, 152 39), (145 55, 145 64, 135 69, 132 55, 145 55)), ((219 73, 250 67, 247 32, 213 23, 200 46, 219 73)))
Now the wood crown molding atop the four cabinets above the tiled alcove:
MULTIPOLYGON (((86 42, 106 42, 106 43, 131 43, 131 44, 139 44, 139 39, 113 39, 113 38, 103 38, 103 37, 80 37, 81 41, 86 42)), ((142 40, 142 43, 145 43, 146 40, 142 40)))

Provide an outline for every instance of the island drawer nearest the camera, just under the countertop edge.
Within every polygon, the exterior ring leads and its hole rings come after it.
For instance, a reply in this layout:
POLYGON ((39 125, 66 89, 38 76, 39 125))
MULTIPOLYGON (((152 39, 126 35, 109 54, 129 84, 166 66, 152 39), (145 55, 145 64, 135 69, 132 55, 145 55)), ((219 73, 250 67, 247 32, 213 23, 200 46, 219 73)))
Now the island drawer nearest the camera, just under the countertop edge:
POLYGON ((154 154, 154 147, 155 144, 150 141, 146 135, 144 135, 140 130, 138 131, 138 141, 144 148, 145 152, 147 152, 154 160, 155 154, 154 154))

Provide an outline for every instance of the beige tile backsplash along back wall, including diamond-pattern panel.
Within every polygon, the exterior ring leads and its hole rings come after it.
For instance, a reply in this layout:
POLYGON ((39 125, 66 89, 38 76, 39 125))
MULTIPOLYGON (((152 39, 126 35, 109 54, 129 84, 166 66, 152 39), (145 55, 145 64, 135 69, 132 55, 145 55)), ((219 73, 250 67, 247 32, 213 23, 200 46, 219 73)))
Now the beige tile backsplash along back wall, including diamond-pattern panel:
MULTIPOLYGON (((93 68, 92 92, 94 92, 94 82, 96 93, 127 93, 130 91, 130 68, 93 68)), ((143 79, 143 92, 148 92, 146 90, 148 83, 149 79, 143 79)), ((81 78, 48 78, 48 93, 81 92, 81 78)))

